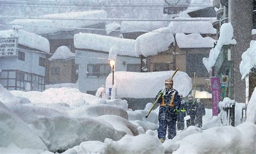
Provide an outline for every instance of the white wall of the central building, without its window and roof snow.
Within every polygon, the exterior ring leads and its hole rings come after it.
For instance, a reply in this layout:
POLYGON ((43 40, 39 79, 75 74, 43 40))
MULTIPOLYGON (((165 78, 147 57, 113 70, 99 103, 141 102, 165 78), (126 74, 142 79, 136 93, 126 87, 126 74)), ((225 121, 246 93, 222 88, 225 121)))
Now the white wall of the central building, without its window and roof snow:
MULTIPOLYGON (((76 64, 79 65, 78 89, 80 92, 86 93, 86 91, 96 91, 99 87, 105 85, 106 77, 87 78, 86 72, 88 64, 108 64, 108 58, 109 53, 76 50, 76 64), (105 59, 92 59, 92 57, 105 59)), ((140 58, 118 55, 115 71, 127 71, 127 64, 140 64, 140 58), (124 61, 125 65, 123 64, 124 61)))

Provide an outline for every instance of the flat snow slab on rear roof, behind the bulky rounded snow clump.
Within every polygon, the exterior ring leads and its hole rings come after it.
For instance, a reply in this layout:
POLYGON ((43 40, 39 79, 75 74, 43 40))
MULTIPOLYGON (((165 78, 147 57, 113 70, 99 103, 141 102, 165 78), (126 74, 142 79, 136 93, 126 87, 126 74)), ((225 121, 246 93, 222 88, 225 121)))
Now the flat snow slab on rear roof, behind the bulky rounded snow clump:
POLYGON ((150 32, 168 24, 169 22, 125 21, 121 23, 121 33, 150 32))

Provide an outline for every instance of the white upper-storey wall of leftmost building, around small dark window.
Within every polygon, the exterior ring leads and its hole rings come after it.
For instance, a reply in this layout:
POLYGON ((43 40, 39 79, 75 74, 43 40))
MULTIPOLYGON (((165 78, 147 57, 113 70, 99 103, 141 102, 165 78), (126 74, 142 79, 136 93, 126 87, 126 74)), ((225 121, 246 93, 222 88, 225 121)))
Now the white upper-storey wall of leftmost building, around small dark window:
POLYGON ((17 50, 17 57, 0 57, 1 69, 18 69, 20 71, 45 76, 45 67, 39 66, 39 57, 45 58, 44 53, 17 50), (18 51, 25 53, 25 61, 18 60, 18 51))

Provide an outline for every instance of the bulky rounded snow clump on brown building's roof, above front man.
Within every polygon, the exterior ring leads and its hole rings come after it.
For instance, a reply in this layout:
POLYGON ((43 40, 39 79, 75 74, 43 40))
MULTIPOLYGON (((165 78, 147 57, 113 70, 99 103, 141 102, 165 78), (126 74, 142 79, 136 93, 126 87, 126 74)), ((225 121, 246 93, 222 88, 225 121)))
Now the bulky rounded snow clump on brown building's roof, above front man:
POLYGON ((172 32, 166 27, 142 34, 136 39, 136 51, 145 57, 166 51, 174 43, 172 32))

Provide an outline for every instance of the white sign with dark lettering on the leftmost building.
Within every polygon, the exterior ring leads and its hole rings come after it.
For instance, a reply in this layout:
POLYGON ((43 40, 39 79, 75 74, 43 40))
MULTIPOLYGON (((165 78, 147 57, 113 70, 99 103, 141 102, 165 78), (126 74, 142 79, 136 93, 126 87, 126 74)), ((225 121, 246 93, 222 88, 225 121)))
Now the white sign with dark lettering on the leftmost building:
POLYGON ((0 57, 16 56, 18 38, 0 38, 0 57))

